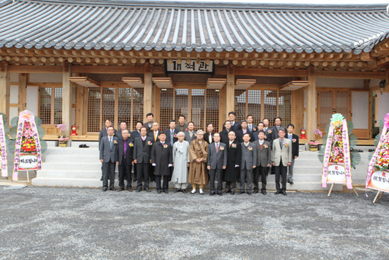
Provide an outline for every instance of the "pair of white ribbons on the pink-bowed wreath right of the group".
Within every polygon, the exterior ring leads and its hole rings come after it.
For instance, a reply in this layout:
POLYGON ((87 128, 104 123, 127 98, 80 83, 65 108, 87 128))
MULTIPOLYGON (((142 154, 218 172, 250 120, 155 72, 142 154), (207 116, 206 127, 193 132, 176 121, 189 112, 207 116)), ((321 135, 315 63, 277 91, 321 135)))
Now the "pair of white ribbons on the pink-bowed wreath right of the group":
MULTIPOLYGON (((342 119, 342 139, 343 139, 343 154, 344 154, 344 171, 346 174, 347 188, 352 188, 352 171, 351 171, 351 157, 350 157, 350 145, 349 145, 349 130, 347 129, 347 120, 342 119)), ((330 124, 328 130, 327 143, 325 145, 325 154, 323 159, 323 176, 322 187, 327 188, 327 176, 328 176, 328 161, 330 160, 330 153, 332 147, 332 135, 334 135, 334 125, 330 124)))

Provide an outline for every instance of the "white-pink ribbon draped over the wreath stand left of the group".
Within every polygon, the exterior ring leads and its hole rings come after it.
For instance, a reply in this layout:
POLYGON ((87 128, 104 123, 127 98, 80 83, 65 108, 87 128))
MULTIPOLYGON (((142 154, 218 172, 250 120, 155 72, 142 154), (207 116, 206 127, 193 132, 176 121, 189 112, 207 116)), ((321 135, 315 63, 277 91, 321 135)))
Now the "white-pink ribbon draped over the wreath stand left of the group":
POLYGON ((35 124, 35 116, 31 111, 25 110, 19 114, 18 120, 18 129, 16 135, 16 143, 15 143, 15 159, 13 159, 13 181, 18 181, 18 173, 19 173, 19 163, 20 163, 20 153, 21 153, 21 145, 22 145, 22 137, 23 137, 23 128, 24 124, 29 122, 31 125, 31 130, 33 132, 33 137, 35 140, 36 150, 37 150, 37 168, 38 170, 42 169, 42 154, 40 148, 40 140, 39 135, 37 133, 37 125, 35 124))

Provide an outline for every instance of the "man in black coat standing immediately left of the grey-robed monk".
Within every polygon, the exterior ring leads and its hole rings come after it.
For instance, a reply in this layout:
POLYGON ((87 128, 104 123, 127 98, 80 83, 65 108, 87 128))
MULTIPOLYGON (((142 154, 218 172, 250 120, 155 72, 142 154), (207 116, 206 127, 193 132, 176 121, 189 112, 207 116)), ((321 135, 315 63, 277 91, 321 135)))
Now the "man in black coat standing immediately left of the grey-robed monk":
POLYGON ((166 142, 166 133, 161 132, 159 140, 153 144, 151 151, 151 164, 156 169, 156 188, 157 192, 168 193, 168 179, 170 177, 170 169, 173 166, 173 147, 166 142), (161 176, 163 176, 163 184, 161 188, 161 176))

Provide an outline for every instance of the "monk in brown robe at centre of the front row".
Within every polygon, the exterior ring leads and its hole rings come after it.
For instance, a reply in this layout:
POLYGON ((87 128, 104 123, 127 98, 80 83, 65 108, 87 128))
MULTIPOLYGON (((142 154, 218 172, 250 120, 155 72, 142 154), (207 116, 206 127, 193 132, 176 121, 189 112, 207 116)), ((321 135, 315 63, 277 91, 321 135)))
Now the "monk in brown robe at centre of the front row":
POLYGON ((197 139, 190 143, 189 147, 189 176, 188 182, 192 183, 192 194, 196 193, 197 184, 199 185, 200 194, 204 194, 202 189, 208 183, 208 170, 207 170, 207 155, 208 144, 203 140, 204 132, 202 130, 197 131, 197 139))

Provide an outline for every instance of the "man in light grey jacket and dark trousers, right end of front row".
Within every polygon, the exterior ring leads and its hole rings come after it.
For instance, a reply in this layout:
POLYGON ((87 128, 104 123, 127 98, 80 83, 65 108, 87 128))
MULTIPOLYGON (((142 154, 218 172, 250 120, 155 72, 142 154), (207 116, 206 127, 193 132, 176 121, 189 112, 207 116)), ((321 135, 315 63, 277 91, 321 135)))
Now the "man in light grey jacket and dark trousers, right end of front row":
POLYGON ((279 128, 279 138, 273 141, 272 164, 275 166, 276 173, 276 194, 286 195, 286 173, 292 160, 291 140, 285 138, 285 128, 279 128), (279 174, 282 177, 282 188, 279 187, 279 174))

